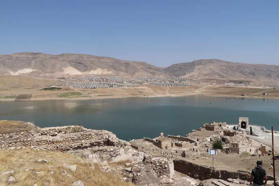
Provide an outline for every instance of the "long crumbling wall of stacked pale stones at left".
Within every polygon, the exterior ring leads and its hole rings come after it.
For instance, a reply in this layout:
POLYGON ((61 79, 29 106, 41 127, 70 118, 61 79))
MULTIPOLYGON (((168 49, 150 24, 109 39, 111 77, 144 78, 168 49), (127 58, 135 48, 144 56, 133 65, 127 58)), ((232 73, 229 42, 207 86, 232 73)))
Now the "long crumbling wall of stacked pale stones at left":
POLYGON ((106 130, 90 130, 81 126, 42 128, 21 133, 0 135, 0 149, 5 147, 26 147, 55 149, 85 149, 93 146, 125 146, 128 142, 119 140, 115 134, 106 130))

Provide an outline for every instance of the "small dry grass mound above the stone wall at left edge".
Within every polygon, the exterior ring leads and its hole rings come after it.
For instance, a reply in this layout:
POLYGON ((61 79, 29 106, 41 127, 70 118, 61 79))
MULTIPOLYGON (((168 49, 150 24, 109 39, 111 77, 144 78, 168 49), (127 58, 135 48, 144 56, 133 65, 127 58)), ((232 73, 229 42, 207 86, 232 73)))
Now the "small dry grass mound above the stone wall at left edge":
POLYGON ((30 130, 37 131, 37 128, 37 126, 26 124, 24 121, 0 120, 0 134, 10 134, 30 130))

